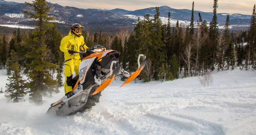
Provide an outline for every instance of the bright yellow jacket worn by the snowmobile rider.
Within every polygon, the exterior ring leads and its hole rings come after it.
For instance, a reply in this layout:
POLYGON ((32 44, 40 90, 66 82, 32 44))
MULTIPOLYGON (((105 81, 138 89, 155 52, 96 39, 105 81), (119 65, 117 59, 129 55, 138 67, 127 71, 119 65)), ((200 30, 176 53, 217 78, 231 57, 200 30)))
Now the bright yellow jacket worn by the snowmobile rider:
POLYGON ((70 59, 79 60, 79 53, 71 55, 68 53, 68 50, 80 51, 80 46, 84 46, 85 50, 88 48, 84 44, 84 37, 82 35, 80 37, 77 37, 74 34, 72 34, 70 30, 68 36, 62 38, 60 42, 60 50, 64 52, 65 61, 70 59))

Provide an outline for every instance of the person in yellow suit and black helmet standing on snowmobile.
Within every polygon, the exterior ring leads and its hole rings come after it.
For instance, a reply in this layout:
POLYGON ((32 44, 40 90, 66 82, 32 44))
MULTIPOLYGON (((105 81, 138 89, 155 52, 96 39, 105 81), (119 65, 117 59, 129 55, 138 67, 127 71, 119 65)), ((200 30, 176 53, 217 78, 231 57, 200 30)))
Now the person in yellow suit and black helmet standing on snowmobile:
POLYGON ((65 95, 69 98, 74 95, 72 89, 72 76, 73 71, 78 75, 78 67, 81 63, 80 55, 75 51, 80 51, 80 46, 84 46, 85 50, 88 48, 84 43, 82 29, 84 27, 80 24, 73 24, 68 36, 62 38, 60 43, 60 50, 64 52, 65 66, 64 66, 64 91, 65 95))

